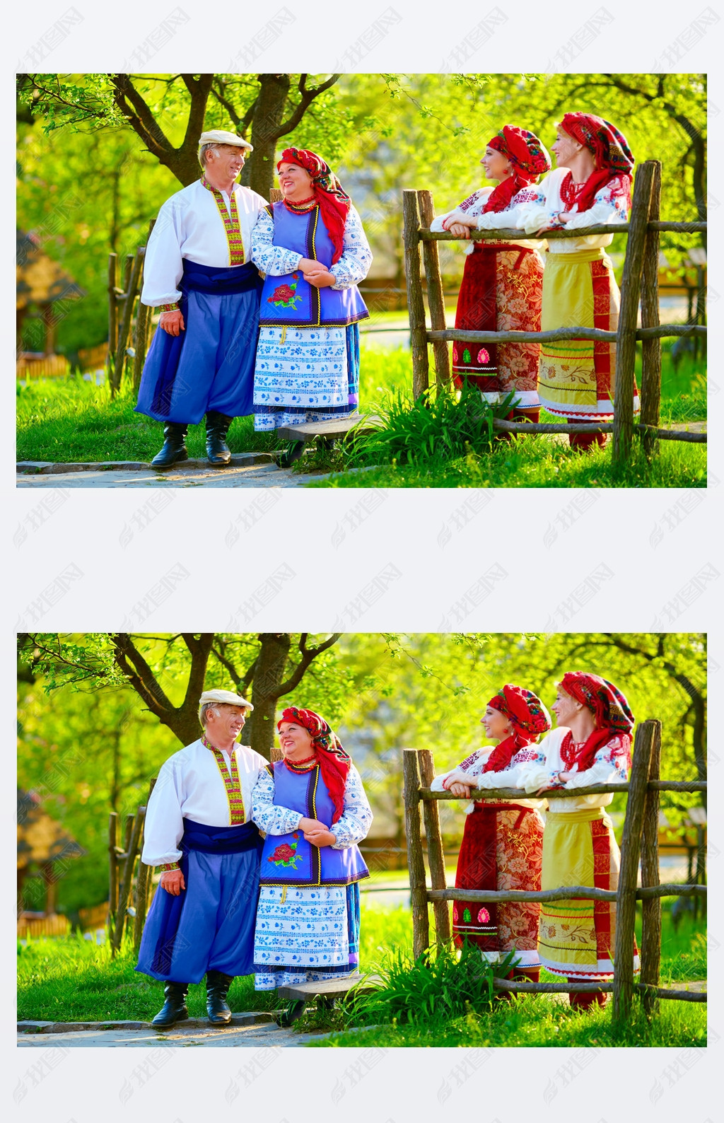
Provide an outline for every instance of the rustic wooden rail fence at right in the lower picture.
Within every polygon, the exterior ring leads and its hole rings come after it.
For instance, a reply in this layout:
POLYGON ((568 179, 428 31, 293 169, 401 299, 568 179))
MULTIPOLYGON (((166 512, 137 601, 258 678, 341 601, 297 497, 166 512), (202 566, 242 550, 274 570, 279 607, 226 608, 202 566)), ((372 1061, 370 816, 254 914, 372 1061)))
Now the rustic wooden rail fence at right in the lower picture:
MULTIPOLYGON (((458 800, 450 792, 431 792, 434 775, 432 752, 429 749, 403 751, 405 825, 407 833, 407 868, 412 906, 413 948, 415 958, 430 947, 429 905, 433 907, 437 942, 450 939, 448 901, 565 901, 577 897, 584 901, 615 901, 616 929, 613 953, 614 979, 607 983, 515 983, 495 979, 498 990, 559 994, 581 990, 603 993, 613 990, 613 1012, 616 1020, 631 1013, 634 992, 641 996, 647 1012, 656 1008, 660 998, 682 1002, 706 1002, 706 994, 693 990, 672 990, 659 986, 661 960, 661 897, 706 896, 704 885, 662 885, 659 878, 659 793, 702 792, 706 782, 673 782, 659 778, 661 756, 661 723, 644 721, 636 730, 631 779, 625 784, 596 784, 574 791, 551 791, 557 800, 598 795, 606 792, 627 792, 626 813, 621 842, 621 869, 615 892, 589 886, 563 886, 544 892, 456 889, 448 888, 445 875, 442 837, 438 814, 438 800, 458 800), (420 803, 422 802, 422 816, 420 803), (430 884, 425 880, 422 823, 427 839, 430 884), (641 860, 641 888, 638 887, 641 860), (641 978, 634 982, 633 941, 636 901, 642 902, 643 928, 641 939, 641 978)), ((544 795, 546 793, 543 793, 544 795)), ((474 791, 474 800, 530 798, 517 788, 474 791)))

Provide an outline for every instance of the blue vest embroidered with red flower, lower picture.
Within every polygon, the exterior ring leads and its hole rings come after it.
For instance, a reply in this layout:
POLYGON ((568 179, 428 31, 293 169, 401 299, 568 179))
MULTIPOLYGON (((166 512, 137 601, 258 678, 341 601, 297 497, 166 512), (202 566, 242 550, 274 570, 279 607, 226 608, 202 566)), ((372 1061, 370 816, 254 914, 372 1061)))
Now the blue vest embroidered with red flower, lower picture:
MULTIPOLYGON (((319 765, 308 773, 290 772, 283 760, 267 767, 274 775, 276 806, 319 819, 334 831, 334 804, 319 765)), ((369 877, 369 870, 357 846, 343 850, 315 847, 305 841, 303 831, 267 834, 264 842, 260 885, 350 885, 364 877, 369 877)))

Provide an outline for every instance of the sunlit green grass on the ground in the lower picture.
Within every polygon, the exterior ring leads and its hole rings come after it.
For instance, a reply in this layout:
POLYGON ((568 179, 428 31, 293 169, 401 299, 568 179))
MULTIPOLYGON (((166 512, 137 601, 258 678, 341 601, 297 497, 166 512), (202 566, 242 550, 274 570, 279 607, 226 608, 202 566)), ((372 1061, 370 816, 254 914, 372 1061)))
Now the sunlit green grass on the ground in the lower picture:
MULTIPOLYGON (((396 876, 403 878, 400 871, 396 876)), ((640 920, 636 924, 640 940, 640 920)), ((670 913, 665 905, 662 917, 661 985, 680 984, 706 977, 705 925, 685 915, 678 932, 673 931, 670 913)), ((390 970, 401 957, 412 951, 411 913, 402 906, 385 907, 367 903, 363 896, 360 966, 375 974, 390 970)), ((134 971, 132 948, 111 959, 107 946, 76 937, 44 939, 18 947, 18 1019, 33 1021, 148 1021, 162 1005, 162 984, 134 971)), ((542 979, 557 982, 542 973, 542 979)), ((559 982, 559 980, 558 980, 559 982)), ((401 985, 397 969, 396 985, 401 985)), ((442 985, 440 986, 442 994, 442 985)), ((429 985, 434 993, 434 984, 429 985)), ((257 993, 251 977, 235 979, 230 990, 236 1011, 273 1010, 278 1006, 274 992, 257 993)), ((425 998, 425 1001, 428 1001, 425 998)), ((419 1021, 406 1016, 384 1023, 381 1008, 375 1011, 376 1024, 351 1030, 349 1015, 342 1010, 331 1013, 312 1007, 296 1023, 301 1031, 336 1030, 331 1038, 313 1042, 314 1047, 439 1047, 439 1046, 704 1046, 706 1043, 706 1008, 704 1004, 662 1002, 660 1013, 648 1022, 634 999, 634 1014, 626 1026, 615 1029, 611 1010, 594 1011, 587 1016, 574 1013, 567 1004, 555 1003, 540 995, 524 995, 511 1002, 495 1002, 491 1008, 482 998, 468 994, 465 999, 448 993, 447 1007, 440 1014, 422 1010, 416 998, 419 1021), (470 1002, 473 997, 473 1002, 470 1002), (475 1005, 478 1008, 475 1008, 475 1005)), ((398 1005, 397 1007, 398 1008, 398 1005)), ((192 1016, 205 1016, 204 987, 189 992, 192 1016)), ((365 1019, 356 1016, 359 1025, 365 1019)))

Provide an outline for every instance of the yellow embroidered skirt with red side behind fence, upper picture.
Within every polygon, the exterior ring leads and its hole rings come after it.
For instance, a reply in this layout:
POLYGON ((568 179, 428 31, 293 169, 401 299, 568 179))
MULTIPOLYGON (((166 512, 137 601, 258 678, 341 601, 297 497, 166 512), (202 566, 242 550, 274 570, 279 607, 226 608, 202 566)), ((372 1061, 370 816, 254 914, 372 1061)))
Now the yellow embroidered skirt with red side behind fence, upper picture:
MULTIPOLYGON (((541 331, 618 326, 618 286, 603 249, 548 253, 543 272, 541 331)), ((566 339, 541 345, 539 394, 550 413, 576 420, 613 417, 615 344, 566 339)), ((634 411, 639 396, 634 385, 634 411)))

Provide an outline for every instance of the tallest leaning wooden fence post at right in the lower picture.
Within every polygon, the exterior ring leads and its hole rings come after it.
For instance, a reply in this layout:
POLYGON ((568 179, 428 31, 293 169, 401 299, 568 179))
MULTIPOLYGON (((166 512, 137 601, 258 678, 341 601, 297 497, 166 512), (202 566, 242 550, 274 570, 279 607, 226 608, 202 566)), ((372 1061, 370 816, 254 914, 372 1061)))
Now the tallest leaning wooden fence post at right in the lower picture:
POLYGON ((656 722, 644 721, 636 730, 629 800, 621 840, 621 869, 616 889, 616 938, 614 943, 613 1016, 623 1021, 631 1014, 633 996, 633 940, 636 919, 636 886, 641 830, 647 802, 651 748, 656 722))

